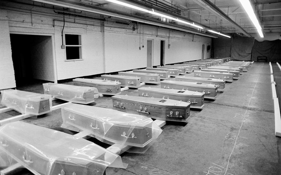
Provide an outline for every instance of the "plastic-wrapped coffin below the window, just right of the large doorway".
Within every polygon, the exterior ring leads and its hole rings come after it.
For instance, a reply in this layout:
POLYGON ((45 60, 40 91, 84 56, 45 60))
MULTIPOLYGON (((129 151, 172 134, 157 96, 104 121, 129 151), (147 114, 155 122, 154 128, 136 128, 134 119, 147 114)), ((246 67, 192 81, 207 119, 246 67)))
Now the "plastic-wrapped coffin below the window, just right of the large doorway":
POLYGON ((43 83, 44 94, 72 103, 89 104, 99 97, 97 88, 74 85, 43 83))

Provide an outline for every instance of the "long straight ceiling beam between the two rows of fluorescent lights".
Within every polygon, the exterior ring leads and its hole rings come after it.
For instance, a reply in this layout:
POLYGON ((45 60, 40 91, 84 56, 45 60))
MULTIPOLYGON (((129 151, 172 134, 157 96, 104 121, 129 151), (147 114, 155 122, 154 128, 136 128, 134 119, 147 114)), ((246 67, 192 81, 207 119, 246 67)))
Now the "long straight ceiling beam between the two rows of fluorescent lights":
POLYGON ((198 5, 202 6, 209 12, 217 15, 218 17, 222 18, 223 20, 226 20, 231 24, 233 27, 235 27, 237 30, 239 30, 244 35, 251 37, 251 35, 246 32, 241 26, 239 26, 236 22, 234 22, 230 17, 228 17, 222 10, 217 8, 212 2, 209 0, 193 0, 194 2, 198 3, 198 5))

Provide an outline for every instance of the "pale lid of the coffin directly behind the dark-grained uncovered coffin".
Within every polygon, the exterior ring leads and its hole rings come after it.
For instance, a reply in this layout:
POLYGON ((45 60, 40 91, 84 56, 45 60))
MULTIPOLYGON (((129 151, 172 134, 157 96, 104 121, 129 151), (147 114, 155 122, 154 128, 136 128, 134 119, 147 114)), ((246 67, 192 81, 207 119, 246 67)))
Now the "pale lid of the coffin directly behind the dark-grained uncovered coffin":
POLYGON ((193 96, 193 97, 202 97, 205 95, 203 92, 195 92, 191 90, 178 90, 178 89, 163 89, 163 88, 138 88, 139 91, 147 91, 147 92, 161 92, 164 94, 170 95, 180 95, 180 96, 193 96))

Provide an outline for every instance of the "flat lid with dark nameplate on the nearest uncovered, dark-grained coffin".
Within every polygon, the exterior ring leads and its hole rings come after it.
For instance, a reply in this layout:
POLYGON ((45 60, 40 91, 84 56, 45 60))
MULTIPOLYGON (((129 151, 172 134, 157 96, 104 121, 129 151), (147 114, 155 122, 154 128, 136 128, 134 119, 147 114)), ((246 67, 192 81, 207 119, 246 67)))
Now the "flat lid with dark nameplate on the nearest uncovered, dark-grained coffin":
POLYGON ((165 107, 188 107, 190 103, 172 99, 161 99, 161 98, 148 98, 148 97, 140 97, 140 96, 130 96, 130 95, 115 95, 112 98, 114 99, 124 99, 129 101, 136 101, 138 103, 152 104, 157 106, 165 106, 165 107))

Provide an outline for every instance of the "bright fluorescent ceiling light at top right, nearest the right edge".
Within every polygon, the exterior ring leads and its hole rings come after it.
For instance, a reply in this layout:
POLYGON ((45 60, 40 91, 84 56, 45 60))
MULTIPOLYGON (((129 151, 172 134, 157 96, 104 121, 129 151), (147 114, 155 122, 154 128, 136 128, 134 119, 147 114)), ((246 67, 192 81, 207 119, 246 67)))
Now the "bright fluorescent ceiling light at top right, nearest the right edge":
POLYGON ((245 11, 247 12, 247 14, 250 17, 251 21, 253 22, 254 26, 257 28, 258 34, 261 36, 261 38, 263 38, 263 31, 261 29, 261 25, 258 22, 258 19, 254 13, 254 10, 251 6, 250 1, 249 0, 239 0, 239 1, 242 4, 245 11))

